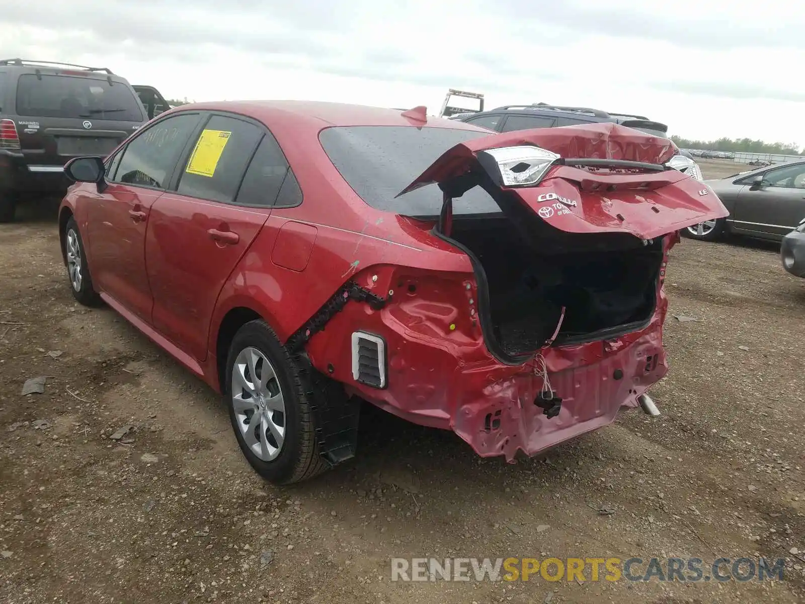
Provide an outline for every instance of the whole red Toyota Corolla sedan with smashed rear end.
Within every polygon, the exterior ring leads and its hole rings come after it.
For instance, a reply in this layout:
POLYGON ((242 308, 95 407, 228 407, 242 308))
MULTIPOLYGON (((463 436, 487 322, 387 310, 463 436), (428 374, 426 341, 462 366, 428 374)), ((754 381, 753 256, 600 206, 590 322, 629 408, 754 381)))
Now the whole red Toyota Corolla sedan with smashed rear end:
POLYGON ((677 152, 609 123, 184 105, 68 163, 64 262, 223 393, 272 482, 353 457, 361 400, 511 461, 656 412, 668 250, 727 215, 677 152))

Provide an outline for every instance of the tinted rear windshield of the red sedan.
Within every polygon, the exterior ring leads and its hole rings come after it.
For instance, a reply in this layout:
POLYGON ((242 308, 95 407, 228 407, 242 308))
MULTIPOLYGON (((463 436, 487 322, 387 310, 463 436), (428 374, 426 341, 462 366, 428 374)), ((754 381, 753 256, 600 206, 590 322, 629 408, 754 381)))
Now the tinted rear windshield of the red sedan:
MULTIPOLYGON (((438 216, 442 192, 429 184, 394 198, 450 147, 489 132, 415 126, 335 126, 319 134, 321 146, 355 192, 373 208, 416 217, 438 216)), ((480 187, 453 203, 453 213, 496 213, 480 187)))

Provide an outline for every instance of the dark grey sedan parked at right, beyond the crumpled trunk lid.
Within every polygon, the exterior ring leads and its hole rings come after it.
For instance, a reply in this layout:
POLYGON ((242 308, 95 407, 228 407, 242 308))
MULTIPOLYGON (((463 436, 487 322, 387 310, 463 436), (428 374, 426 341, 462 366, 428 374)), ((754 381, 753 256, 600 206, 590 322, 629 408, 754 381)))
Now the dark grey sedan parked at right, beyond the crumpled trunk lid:
POLYGON ((683 234, 713 241, 727 233, 780 241, 805 217, 805 161, 707 180, 729 216, 688 227, 683 234))

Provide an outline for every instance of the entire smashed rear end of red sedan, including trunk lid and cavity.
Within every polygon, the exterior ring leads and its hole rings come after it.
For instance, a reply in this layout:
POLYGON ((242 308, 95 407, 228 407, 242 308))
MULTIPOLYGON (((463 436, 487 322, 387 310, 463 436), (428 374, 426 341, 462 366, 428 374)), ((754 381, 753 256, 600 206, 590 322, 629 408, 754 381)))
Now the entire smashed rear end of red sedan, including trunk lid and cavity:
POLYGON ((440 215, 398 222, 419 254, 458 250, 466 271, 421 255, 416 268, 404 256, 369 263, 351 280, 382 304, 343 304, 327 336, 307 341, 314 366, 510 461, 609 424, 620 407, 656 412, 646 391, 667 372, 668 251, 680 229, 726 215, 667 165, 676 151, 610 123, 456 144, 398 196, 404 205, 436 184, 440 215), (478 189, 497 212, 460 211, 478 189))

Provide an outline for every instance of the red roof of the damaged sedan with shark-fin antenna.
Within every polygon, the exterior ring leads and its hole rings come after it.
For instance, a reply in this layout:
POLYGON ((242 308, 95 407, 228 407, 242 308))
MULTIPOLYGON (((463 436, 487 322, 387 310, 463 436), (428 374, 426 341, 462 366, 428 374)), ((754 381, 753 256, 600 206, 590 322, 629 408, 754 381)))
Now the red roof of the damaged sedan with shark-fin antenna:
POLYGON ((171 113, 188 110, 224 111, 242 114, 271 126, 276 122, 295 122, 295 126, 321 130, 329 126, 424 126, 453 130, 484 130, 457 120, 427 116, 417 122, 403 116, 404 111, 324 101, 215 101, 181 105, 171 113))

